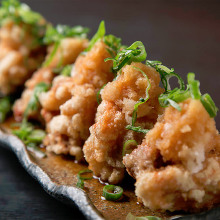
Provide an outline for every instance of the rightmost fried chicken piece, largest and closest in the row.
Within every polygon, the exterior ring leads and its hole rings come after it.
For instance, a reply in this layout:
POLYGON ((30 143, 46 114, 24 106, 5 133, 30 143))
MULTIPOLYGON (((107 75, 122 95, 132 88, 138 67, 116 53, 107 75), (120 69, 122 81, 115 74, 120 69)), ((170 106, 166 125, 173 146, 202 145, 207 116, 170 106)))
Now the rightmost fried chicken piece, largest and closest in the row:
POLYGON ((150 209, 209 209, 220 202, 220 136, 199 100, 167 107, 143 143, 124 157, 135 193, 150 209))

